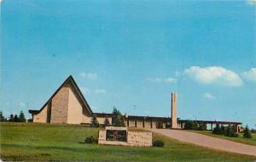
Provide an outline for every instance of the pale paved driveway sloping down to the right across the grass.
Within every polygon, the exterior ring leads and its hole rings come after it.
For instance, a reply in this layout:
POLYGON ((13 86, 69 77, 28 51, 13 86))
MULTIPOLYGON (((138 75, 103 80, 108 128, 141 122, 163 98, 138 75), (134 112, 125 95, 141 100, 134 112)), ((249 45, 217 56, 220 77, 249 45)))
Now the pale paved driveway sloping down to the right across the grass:
POLYGON ((209 137, 199 133, 182 130, 148 129, 148 131, 157 132, 165 135, 166 137, 172 137, 179 141, 189 142, 207 148, 214 148, 237 154, 248 154, 256 156, 256 146, 251 146, 239 142, 232 142, 217 137, 209 137))

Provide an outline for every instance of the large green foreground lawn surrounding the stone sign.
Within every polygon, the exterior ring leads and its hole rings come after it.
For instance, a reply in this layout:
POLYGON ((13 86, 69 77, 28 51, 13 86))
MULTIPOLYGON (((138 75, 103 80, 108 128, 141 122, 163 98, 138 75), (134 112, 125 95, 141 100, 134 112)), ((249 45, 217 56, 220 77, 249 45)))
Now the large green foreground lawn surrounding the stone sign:
POLYGON ((1 123, 1 159, 24 161, 254 161, 256 157, 229 154, 177 142, 154 134, 164 148, 132 148, 85 144, 97 128, 36 123, 1 123))

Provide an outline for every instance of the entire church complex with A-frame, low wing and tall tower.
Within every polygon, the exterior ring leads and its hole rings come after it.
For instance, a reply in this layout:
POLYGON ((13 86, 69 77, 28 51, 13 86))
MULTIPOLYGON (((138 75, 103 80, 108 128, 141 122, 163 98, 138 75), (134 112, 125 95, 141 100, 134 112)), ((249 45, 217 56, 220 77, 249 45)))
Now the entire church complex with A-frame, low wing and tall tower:
MULTIPOLYGON (((145 128, 173 128, 182 129, 186 120, 177 118, 177 92, 172 93, 171 118, 155 116, 137 116, 124 115, 125 126, 145 127, 145 128)), ((38 123, 55 124, 87 124, 90 125, 92 117, 95 115, 100 125, 104 124, 106 118, 112 123, 112 114, 95 113, 90 109, 83 93, 70 75, 66 81, 61 84, 54 94, 48 99, 44 106, 39 110, 29 110, 32 114, 32 121, 38 123)), ((224 124, 236 125, 238 128, 240 122, 227 121, 207 121, 194 120, 205 124, 224 124)))

